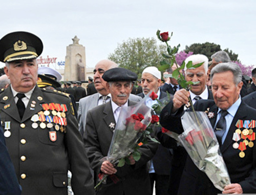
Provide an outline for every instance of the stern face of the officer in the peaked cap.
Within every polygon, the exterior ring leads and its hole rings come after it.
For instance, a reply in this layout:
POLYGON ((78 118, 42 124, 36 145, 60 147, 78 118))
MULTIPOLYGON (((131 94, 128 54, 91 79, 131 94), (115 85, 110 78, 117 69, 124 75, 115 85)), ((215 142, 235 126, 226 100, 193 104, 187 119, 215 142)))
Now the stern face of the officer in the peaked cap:
POLYGON ((36 59, 15 60, 5 67, 5 73, 16 92, 27 93, 36 85, 37 69, 36 59))

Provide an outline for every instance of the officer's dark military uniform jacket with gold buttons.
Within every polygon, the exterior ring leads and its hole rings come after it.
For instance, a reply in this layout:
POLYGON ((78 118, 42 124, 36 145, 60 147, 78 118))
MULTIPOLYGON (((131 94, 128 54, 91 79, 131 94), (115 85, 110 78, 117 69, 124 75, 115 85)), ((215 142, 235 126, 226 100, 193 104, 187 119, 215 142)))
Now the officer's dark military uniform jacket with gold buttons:
MULTIPOLYGON (((11 136, 6 138, 6 144, 22 194, 67 194, 69 169, 74 193, 94 194, 88 158, 72 107, 70 98, 61 92, 36 86, 20 120, 10 87, 0 94, 0 117, 4 131, 5 122, 10 121, 11 136), (44 111, 42 104, 45 103, 67 105, 66 133, 56 131, 54 127, 42 129, 38 125, 32 128, 34 121, 31 117, 44 111)), ((52 113, 49 116, 53 116, 52 113)), ((36 123, 40 124, 39 121, 36 123)))

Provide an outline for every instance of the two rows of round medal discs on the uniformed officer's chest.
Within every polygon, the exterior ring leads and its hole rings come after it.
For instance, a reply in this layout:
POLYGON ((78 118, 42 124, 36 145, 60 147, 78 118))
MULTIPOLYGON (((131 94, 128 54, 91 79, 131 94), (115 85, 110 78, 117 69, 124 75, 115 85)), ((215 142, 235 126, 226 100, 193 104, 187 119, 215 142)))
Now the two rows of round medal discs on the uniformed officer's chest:
MULTIPOLYGON (((41 112, 42 112, 42 111, 41 111, 41 112)), ((38 114, 40 114, 40 112, 39 112, 38 114)), ((51 114, 50 111, 48 111, 48 110, 47 110, 47 111, 44 111, 44 115, 45 115, 45 116, 49 116, 50 114, 51 114)), ((37 114, 36 114, 36 115, 37 115, 37 114)), ((57 112, 57 111, 55 111, 55 110, 52 111, 52 115, 53 115, 53 116, 57 116, 57 117, 62 117, 62 118, 65 118, 65 117, 66 117, 66 113, 65 113, 65 112, 57 112)), ((33 123, 31 124, 31 126, 32 126, 32 128, 37 128, 37 127, 38 127, 38 123, 33 122, 33 123)), ((52 127, 53 127, 53 123, 49 122, 49 123, 46 124, 46 123, 44 123, 44 122, 41 122, 41 123, 39 124, 39 126, 40 126, 40 128, 42 128, 42 129, 45 129, 46 127, 47 127, 47 128, 52 128, 52 127)), ((65 125, 59 127, 58 124, 55 124, 55 125, 54 125, 54 128, 56 129, 56 131, 59 131, 59 129, 60 129, 61 132, 65 132, 65 131, 66 131, 65 125)))

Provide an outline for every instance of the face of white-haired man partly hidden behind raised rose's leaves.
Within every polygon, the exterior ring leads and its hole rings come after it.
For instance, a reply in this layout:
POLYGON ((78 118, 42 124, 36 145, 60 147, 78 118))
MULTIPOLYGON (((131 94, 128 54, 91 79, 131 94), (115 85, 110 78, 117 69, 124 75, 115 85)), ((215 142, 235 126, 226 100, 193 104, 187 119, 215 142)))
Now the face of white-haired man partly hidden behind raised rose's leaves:
POLYGON ((191 85, 191 92, 196 95, 203 93, 207 81, 207 75, 205 73, 204 66, 202 65, 196 69, 187 69, 185 74, 186 81, 199 81, 198 84, 191 85))

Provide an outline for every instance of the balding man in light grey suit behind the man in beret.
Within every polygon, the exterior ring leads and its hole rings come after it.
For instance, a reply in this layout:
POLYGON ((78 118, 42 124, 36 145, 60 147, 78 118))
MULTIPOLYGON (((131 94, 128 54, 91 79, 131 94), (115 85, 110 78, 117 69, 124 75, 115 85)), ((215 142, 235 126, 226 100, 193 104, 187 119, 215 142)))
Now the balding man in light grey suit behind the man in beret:
MULTIPOLYGON (((78 121, 79 121, 79 131, 83 135, 86 129, 86 118, 87 112, 97 105, 104 104, 111 99, 111 94, 106 88, 106 81, 102 79, 102 75, 105 71, 116 68, 117 64, 113 61, 104 59, 99 61, 94 69, 94 85, 98 93, 84 97, 79 100, 78 108, 78 121)), ((129 99, 132 101, 140 101, 141 98, 130 94, 129 99)))

